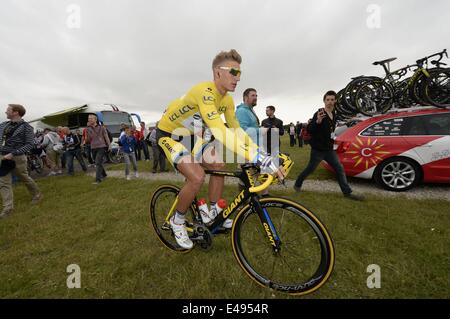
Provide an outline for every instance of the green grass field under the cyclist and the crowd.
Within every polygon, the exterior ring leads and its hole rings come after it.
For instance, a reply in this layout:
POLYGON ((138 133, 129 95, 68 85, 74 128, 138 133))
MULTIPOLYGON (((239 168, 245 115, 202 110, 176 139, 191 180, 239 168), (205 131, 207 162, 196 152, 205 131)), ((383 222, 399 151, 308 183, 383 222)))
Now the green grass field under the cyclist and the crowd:
MULTIPOLYGON (((161 183, 92 178, 41 179, 42 204, 15 188, 16 212, 0 220, 2 298, 292 298, 250 280, 229 235, 209 252, 177 254, 150 227, 148 203, 161 183), (66 267, 81 267, 81 289, 68 289, 66 267), (199 275, 202 274, 202 275, 199 275)), ((200 196, 206 196, 204 187, 200 196)), ((232 199, 235 187, 224 197, 232 199)), ((297 201, 325 223, 335 244, 328 282, 304 298, 449 298, 450 203, 340 194, 272 192, 297 201), (381 267, 381 289, 368 289, 367 266, 381 267)))

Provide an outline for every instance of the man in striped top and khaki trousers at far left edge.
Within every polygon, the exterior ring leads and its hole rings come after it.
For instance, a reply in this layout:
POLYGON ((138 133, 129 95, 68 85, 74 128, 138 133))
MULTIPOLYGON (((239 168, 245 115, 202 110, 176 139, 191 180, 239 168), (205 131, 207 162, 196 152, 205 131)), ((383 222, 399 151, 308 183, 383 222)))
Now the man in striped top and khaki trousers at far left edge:
POLYGON ((0 194, 2 196, 3 210, 0 218, 6 218, 14 211, 14 192, 12 188, 12 174, 18 176, 25 183, 31 193, 31 204, 38 204, 43 195, 36 183, 28 175, 27 156, 33 148, 33 128, 22 117, 26 110, 22 105, 9 104, 6 109, 9 121, 0 124, 0 152, 1 168, 0 194))

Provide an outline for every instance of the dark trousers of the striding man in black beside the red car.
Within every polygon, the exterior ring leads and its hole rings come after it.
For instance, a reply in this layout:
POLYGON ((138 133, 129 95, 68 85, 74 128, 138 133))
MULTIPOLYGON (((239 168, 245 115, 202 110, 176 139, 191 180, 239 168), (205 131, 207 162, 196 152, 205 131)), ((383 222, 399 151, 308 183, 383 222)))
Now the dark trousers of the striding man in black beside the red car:
POLYGON ((334 171, 336 172, 336 177, 339 182, 339 186, 341 187, 341 191, 344 194, 350 194, 352 192, 352 189, 348 185, 347 177, 345 176, 344 167, 342 166, 341 162, 339 162, 339 158, 335 151, 319 151, 315 149, 311 149, 311 157, 309 159, 308 166, 304 169, 303 172, 300 173, 300 175, 297 177, 297 180, 295 181, 295 186, 301 188, 303 185, 303 181, 316 170, 317 166, 322 161, 326 161, 328 164, 330 164, 331 167, 334 168, 334 171))

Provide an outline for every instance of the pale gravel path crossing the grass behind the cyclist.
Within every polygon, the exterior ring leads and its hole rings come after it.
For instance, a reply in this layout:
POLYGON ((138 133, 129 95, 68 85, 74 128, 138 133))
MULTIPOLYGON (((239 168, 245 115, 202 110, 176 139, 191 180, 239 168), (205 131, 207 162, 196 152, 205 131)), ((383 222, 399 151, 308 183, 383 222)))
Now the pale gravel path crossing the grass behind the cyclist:
MULTIPOLYGON (((90 172, 91 176, 95 176, 95 173, 90 172)), ((115 178, 125 178, 123 171, 108 171, 108 176, 115 178)), ((184 177, 181 174, 175 173, 158 173, 152 174, 147 172, 140 172, 139 178, 149 179, 149 180, 160 180, 160 181, 184 181, 184 177)), ((206 177, 208 181, 208 176, 206 177)), ((226 185, 236 185, 237 179, 234 178, 225 178, 226 185)), ((286 181, 287 187, 282 185, 275 185, 272 188, 277 190, 283 190, 287 192, 293 192, 293 180, 286 181)), ((355 194, 370 194, 377 195, 381 197, 397 197, 397 196, 405 196, 406 198, 411 199, 440 199, 445 201, 450 201, 450 185, 449 184, 430 184, 430 185, 419 185, 418 187, 409 190, 407 192, 389 192, 383 189, 378 188, 373 182, 367 180, 356 180, 352 179, 350 181, 350 186, 352 187, 355 194)), ((302 190, 312 191, 312 192, 331 192, 331 193, 340 193, 341 190, 337 181, 334 180, 306 180, 303 184, 302 190)))

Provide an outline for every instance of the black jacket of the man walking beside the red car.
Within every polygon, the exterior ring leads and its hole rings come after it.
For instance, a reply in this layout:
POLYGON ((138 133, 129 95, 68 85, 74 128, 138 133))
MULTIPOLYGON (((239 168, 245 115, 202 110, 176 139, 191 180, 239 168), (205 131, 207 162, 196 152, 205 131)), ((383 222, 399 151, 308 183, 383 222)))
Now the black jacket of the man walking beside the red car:
POLYGON ((334 140, 331 139, 331 133, 336 129, 336 111, 333 110, 333 120, 326 114, 322 123, 317 124, 317 113, 311 123, 308 125, 308 131, 311 134, 310 145, 311 148, 318 151, 333 150, 334 140))

